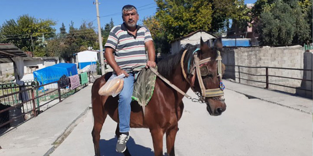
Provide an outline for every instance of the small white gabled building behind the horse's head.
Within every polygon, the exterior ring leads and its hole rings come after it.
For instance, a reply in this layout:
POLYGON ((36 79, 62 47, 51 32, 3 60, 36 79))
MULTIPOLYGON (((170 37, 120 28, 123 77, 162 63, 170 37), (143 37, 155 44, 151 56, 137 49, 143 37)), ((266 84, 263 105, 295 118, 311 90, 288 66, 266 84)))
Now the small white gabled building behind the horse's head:
POLYGON ((192 32, 186 36, 180 37, 172 41, 171 45, 171 53, 175 54, 179 52, 183 46, 186 44, 192 44, 192 45, 197 45, 200 44, 200 37, 202 37, 202 40, 204 42, 208 41, 208 45, 212 45, 212 39, 216 39, 217 37, 214 36, 213 34, 203 31, 203 30, 197 30, 195 32, 192 32))

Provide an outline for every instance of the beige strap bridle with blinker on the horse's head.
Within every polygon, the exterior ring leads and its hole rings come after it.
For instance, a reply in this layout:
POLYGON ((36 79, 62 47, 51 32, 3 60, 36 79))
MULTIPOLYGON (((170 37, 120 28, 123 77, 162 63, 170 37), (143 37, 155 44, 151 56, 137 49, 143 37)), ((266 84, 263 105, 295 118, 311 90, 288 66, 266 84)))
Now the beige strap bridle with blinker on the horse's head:
POLYGON ((225 89, 225 85, 223 84, 222 82, 222 57, 221 57, 221 53, 220 51, 217 51, 218 52, 218 57, 216 58, 216 61, 218 61, 218 78, 219 78, 219 88, 215 88, 215 89, 206 89, 204 84, 203 84, 203 79, 202 79, 202 76, 207 76, 209 71, 208 71, 208 66, 205 66, 205 64, 209 63, 211 60, 211 57, 208 57, 206 59, 203 59, 203 60, 199 60, 199 57, 198 57, 198 52, 200 51, 199 48, 197 48, 195 51, 193 51, 192 55, 193 55, 193 65, 192 67, 190 68, 191 66, 191 58, 189 58, 188 60, 188 66, 187 66, 187 73, 188 73, 188 77, 187 77, 187 74, 185 72, 185 69, 184 69, 184 65, 183 65, 183 62, 184 62, 184 57, 187 53, 187 50, 185 50, 182 54, 182 58, 181 58, 181 68, 182 68, 182 74, 184 76, 184 78, 187 80, 187 82, 190 84, 192 90, 194 91, 194 85, 192 82, 190 82, 190 76, 193 77, 193 79, 195 79, 194 77, 196 76, 197 74, 197 77, 198 77, 198 82, 199 82, 199 85, 200 85, 200 89, 201 89, 201 93, 195 93, 199 96, 199 99, 202 99, 204 100, 204 98, 206 97, 213 97, 213 100, 220 100, 220 101, 224 101, 224 99, 220 99, 220 98, 217 98, 218 96, 223 96, 224 95, 224 89, 225 89), (190 70, 191 69, 191 70, 190 70))

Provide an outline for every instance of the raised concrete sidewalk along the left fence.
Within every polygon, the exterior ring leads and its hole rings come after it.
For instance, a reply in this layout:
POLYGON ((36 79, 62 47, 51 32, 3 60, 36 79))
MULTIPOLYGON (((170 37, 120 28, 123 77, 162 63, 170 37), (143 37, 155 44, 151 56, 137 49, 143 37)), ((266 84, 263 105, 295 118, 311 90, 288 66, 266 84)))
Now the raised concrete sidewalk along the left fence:
POLYGON ((0 137, 0 155, 44 156, 54 149, 54 142, 80 116, 87 112, 91 85, 78 91, 0 137))

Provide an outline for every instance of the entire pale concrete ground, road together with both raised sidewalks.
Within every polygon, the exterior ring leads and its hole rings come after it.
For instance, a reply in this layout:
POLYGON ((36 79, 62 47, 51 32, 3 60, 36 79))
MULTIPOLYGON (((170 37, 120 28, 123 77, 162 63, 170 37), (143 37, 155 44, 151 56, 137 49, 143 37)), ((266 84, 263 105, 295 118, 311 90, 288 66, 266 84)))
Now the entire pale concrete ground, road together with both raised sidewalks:
MULTIPOLYGON (((312 115, 308 114, 312 100, 229 81, 225 81, 225 84, 227 110, 221 116, 210 116, 205 105, 183 99, 185 109, 179 121, 176 155, 312 154, 312 115), (238 92, 257 98, 249 99, 238 92), (308 109, 298 111, 297 105, 308 109)), ((93 119, 92 112, 88 109, 90 90, 91 86, 80 90, 37 118, 30 119, 1 136, 0 145, 3 149, 0 150, 0 155, 44 156, 54 150, 51 156, 93 156, 93 119), (83 115, 84 113, 86 114, 83 115), (55 148, 55 141, 76 119, 78 125, 71 133, 66 132, 70 133, 68 137, 55 148)), ((188 94, 196 97, 191 90, 188 94)), ((107 117, 101 132, 102 155, 121 155, 115 152, 115 128, 116 123, 107 117)), ((128 146, 131 154, 154 155, 148 129, 131 129, 130 134, 128 146)), ((165 153, 165 138, 163 140, 165 153)))

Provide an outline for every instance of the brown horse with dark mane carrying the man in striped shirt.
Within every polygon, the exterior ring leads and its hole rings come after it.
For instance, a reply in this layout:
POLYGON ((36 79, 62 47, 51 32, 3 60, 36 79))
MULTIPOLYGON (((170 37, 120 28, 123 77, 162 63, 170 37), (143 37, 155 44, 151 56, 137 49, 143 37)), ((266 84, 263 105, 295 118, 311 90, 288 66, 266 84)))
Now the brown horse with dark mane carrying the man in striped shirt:
MULTIPOLYGON (((200 41, 200 51, 198 53, 198 58, 203 60, 205 58, 211 57, 209 63, 205 64, 208 66, 209 74, 207 76, 202 76, 203 84, 206 89, 219 88, 218 71, 217 71, 217 61, 215 58, 218 56, 217 51, 222 48, 221 40, 218 39, 214 44, 214 48, 209 48, 204 42, 200 41)), ((189 58, 193 60, 193 52, 196 50, 196 46, 187 45, 187 53, 183 59, 184 70, 187 73, 187 61, 189 58)), ((158 63, 158 72, 167 78, 172 84, 176 85, 179 89, 187 92, 190 87, 193 88, 195 92, 200 92, 200 85, 197 78, 194 81, 193 86, 188 83, 188 81, 182 75, 181 69, 181 57, 184 50, 179 52, 174 56, 170 56, 158 63)), ((191 61, 192 62, 192 61, 191 61)), ((192 65, 192 64, 191 64, 192 65)), ((224 72, 224 66, 222 69, 224 72)), ((104 76, 95 80, 92 85, 92 111, 94 116, 94 127, 91 132, 95 155, 100 156, 100 131, 102 125, 105 121, 107 115, 109 115, 115 122, 119 122, 118 119, 118 96, 101 96, 98 94, 98 90, 102 85, 105 84, 106 80, 112 75, 112 73, 107 73, 104 76)), ((198 75, 196 75, 198 76, 198 75)), ((191 81, 191 80, 189 80, 191 81)), ((153 140, 153 148, 156 156, 163 155, 163 135, 166 134, 166 147, 167 155, 175 155, 174 153, 174 143, 175 137, 178 130, 178 121, 182 117, 182 112, 184 104, 182 98, 184 95, 178 93, 172 87, 167 85, 160 78, 156 79, 155 88, 153 96, 146 106, 145 115, 143 114, 141 106, 133 101, 131 103, 131 119, 130 126, 132 128, 148 128, 153 140)), ((221 98, 221 97, 219 97, 221 98)), ((223 111, 226 110, 226 105, 223 100, 218 100, 218 98, 206 97, 204 101, 207 104, 207 110, 210 115, 221 115, 223 111)), ((116 136, 120 135, 119 125, 117 124, 116 136)), ((123 153, 124 155, 130 155, 128 149, 123 153)))

